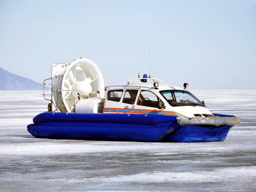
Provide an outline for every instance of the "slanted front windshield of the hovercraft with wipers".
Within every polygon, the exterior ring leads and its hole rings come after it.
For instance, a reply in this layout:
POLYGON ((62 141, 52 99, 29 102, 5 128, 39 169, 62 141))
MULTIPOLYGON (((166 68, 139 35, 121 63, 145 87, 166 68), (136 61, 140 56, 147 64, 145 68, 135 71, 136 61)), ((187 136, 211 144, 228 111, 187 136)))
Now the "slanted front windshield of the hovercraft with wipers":
POLYGON ((201 105, 204 106, 192 93, 183 90, 167 90, 160 92, 172 106, 201 105))

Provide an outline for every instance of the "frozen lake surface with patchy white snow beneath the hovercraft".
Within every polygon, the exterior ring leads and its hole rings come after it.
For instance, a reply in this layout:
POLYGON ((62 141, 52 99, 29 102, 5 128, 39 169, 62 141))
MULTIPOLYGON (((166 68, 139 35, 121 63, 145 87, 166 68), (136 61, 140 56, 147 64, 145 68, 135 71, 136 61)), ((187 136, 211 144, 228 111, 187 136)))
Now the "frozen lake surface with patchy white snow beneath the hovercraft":
POLYGON ((207 143, 36 139, 41 91, 0 91, 0 191, 256 191, 256 90, 191 91, 242 123, 207 143))

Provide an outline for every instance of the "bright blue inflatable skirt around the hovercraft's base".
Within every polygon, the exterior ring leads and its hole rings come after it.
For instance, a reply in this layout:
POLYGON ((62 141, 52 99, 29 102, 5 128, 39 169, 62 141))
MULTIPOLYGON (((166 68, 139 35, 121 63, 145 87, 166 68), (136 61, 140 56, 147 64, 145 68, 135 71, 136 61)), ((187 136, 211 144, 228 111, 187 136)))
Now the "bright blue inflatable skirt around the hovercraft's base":
MULTIPOLYGON (((223 115, 224 116, 224 115, 223 115)), ((27 126, 36 138, 143 142, 223 141, 229 125, 185 125, 176 116, 45 112, 27 126)))

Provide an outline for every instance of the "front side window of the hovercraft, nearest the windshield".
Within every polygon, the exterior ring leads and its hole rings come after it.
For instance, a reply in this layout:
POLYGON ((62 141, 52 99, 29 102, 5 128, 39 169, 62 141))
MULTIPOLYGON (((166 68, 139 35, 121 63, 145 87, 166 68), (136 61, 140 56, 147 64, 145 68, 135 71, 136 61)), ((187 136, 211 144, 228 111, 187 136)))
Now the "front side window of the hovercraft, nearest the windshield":
POLYGON ((157 102, 160 99, 150 91, 141 91, 137 104, 147 107, 157 108, 157 102))

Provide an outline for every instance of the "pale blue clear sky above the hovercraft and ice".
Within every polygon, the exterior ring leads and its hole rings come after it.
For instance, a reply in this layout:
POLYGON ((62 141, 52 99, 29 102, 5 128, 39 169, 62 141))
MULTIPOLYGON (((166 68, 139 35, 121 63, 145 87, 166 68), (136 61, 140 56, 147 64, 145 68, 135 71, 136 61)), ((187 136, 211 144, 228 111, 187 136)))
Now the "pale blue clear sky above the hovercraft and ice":
POLYGON ((126 84, 149 75, 149 48, 150 76, 167 84, 256 89, 256 1, 0 0, 0 67, 39 83, 83 56, 126 84))

